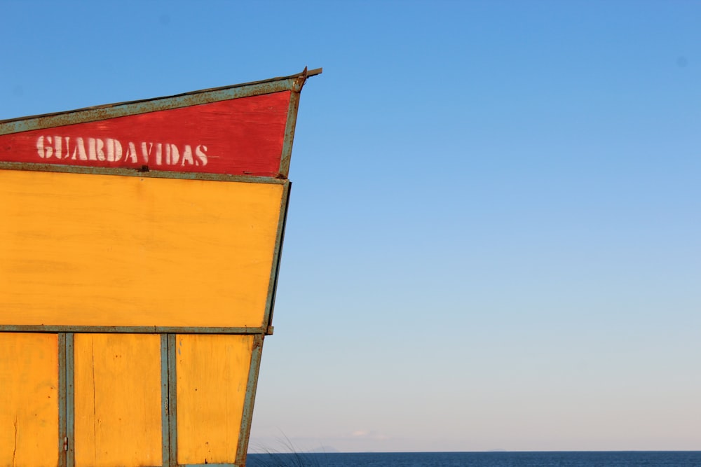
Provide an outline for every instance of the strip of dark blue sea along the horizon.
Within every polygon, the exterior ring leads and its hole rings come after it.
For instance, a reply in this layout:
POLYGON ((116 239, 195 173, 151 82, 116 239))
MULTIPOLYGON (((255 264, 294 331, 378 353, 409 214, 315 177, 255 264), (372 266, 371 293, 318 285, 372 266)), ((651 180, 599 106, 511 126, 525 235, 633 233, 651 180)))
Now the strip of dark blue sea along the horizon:
POLYGON ((701 467, 701 451, 248 454, 248 467, 701 467))

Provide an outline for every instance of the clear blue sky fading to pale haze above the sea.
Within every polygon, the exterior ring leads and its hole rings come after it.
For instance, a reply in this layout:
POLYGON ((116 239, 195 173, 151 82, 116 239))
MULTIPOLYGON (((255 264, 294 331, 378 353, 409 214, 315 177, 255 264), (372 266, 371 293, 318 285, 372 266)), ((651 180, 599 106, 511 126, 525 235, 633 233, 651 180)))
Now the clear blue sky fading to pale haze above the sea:
POLYGON ((0 119, 324 68, 254 449, 701 449, 698 2, 0 8, 0 119))

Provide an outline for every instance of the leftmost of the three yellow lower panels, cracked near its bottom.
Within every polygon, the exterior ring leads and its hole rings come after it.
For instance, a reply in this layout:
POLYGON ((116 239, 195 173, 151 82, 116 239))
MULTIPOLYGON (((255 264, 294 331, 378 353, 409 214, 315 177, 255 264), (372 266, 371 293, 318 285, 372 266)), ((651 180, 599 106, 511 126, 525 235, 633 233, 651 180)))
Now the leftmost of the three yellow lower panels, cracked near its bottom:
POLYGON ((0 333, 0 465, 57 466, 58 336, 0 333))

